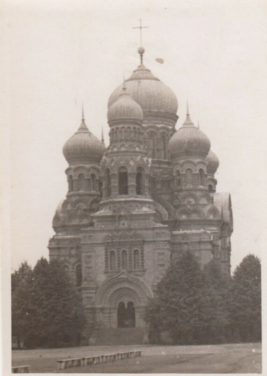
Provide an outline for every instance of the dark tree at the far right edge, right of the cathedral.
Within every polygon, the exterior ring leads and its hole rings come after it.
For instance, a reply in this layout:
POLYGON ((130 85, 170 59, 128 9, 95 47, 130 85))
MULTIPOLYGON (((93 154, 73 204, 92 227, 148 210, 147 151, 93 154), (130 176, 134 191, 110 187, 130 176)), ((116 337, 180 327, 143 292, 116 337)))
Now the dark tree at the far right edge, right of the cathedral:
POLYGON ((230 320, 236 340, 261 340, 261 270, 258 257, 249 254, 232 277, 230 320))

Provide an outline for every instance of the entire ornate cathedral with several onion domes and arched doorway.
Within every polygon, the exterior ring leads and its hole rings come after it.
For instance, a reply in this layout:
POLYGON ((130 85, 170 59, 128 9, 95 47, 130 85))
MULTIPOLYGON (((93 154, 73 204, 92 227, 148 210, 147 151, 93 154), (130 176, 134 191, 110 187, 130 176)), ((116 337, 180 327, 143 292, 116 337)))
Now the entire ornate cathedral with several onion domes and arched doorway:
POLYGON ((145 328, 147 301, 181 252, 230 274, 231 200, 216 193, 219 160, 188 105, 175 129, 177 98, 145 67, 144 52, 109 98, 109 146, 83 115, 63 147, 68 193, 49 255, 63 261, 88 322, 102 330, 145 328))

